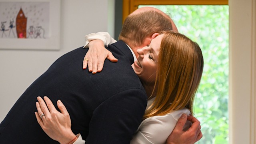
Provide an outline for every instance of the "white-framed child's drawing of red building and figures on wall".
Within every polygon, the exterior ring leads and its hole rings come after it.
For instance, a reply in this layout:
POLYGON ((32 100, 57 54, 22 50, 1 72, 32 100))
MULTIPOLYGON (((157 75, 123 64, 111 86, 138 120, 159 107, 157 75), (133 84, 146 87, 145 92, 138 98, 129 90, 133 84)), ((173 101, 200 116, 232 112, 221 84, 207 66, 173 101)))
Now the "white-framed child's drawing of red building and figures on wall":
POLYGON ((59 50, 60 0, 0 0, 0 49, 59 50))

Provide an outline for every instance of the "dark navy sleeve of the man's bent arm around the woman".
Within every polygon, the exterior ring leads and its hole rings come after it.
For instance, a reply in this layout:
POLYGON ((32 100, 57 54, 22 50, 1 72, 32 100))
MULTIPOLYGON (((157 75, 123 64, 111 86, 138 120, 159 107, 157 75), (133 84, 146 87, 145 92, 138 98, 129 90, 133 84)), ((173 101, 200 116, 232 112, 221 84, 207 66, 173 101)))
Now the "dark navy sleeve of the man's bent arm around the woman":
POLYGON ((146 108, 146 94, 128 89, 105 100, 93 112, 86 144, 129 144, 146 108))

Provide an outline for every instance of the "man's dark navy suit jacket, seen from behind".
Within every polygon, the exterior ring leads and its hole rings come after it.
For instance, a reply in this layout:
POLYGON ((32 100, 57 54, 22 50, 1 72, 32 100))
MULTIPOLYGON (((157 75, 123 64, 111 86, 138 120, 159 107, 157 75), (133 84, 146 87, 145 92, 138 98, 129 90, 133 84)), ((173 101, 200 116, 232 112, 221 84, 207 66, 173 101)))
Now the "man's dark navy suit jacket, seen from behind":
POLYGON ((118 62, 105 61, 102 72, 82 69, 85 48, 64 54, 14 104, 0 124, 0 144, 53 144, 36 121, 36 97, 66 106, 74 134, 86 144, 128 144, 144 114, 147 96, 134 73, 132 53, 123 41, 108 46, 118 62))

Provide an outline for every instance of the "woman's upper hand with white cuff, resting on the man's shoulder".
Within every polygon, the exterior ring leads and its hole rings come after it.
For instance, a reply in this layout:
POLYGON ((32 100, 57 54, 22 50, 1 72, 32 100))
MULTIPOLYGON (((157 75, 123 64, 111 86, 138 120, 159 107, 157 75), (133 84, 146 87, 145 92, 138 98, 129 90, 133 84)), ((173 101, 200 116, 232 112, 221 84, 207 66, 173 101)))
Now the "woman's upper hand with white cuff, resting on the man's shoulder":
POLYGON ((88 34, 84 38, 86 40, 84 48, 89 48, 89 50, 84 56, 83 69, 86 69, 88 65, 89 72, 92 72, 92 74, 96 74, 96 72, 102 71, 106 58, 111 62, 118 61, 113 56, 112 52, 108 51, 104 47, 116 42, 116 40, 114 40, 110 36, 110 34, 108 34, 108 32, 88 34))

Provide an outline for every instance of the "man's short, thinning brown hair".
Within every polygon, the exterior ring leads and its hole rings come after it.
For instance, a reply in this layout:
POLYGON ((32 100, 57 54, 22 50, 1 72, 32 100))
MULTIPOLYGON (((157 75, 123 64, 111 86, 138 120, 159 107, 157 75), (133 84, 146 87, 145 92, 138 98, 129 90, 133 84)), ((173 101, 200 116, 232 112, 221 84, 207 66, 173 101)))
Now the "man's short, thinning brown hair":
POLYGON ((142 46, 146 37, 162 30, 172 30, 171 18, 154 10, 130 14, 124 21, 119 40, 142 46))

